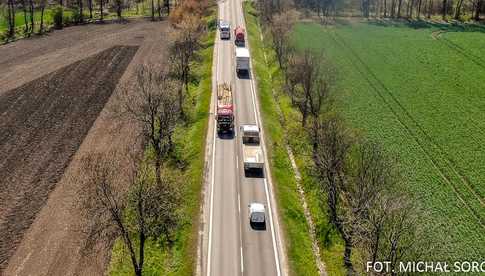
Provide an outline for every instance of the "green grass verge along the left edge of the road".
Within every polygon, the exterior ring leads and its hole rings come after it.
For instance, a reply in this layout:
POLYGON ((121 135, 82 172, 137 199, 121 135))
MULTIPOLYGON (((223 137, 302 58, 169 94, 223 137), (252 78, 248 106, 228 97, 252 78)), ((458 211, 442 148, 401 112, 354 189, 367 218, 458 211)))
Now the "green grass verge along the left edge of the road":
MULTIPOLYGON (((189 123, 180 125, 174 135, 175 157, 169 166, 185 180, 182 187, 183 202, 180 203, 182 219, 171 250, 160 246, 159 241, 147 243, 143 269, 144 275, 193 275, 197 258, 197 234, 201 188, 204 181, 205 142, 212 85, 212 54, 215 38, 215 9, 205 18, 208 34, 198 51, 198 59, 192 65, 193 80, 190 84, 186 111, 189 123), (193 104, 191 104, 191 102, 193 104)), ((150 156, 147 150, 146 156, 150 156)), ((132 275, 131 262, 120 240, 112 251, 110 275, 132 275)))

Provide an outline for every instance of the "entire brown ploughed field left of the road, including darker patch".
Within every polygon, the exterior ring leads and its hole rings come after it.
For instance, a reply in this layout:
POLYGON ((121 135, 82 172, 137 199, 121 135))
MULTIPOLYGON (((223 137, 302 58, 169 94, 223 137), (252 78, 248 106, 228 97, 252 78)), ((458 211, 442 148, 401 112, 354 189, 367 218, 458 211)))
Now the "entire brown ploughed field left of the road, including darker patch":
POLYGON ((110 242, 87 255, 80 231, 80 160, 136 142, 137 126, 110 110, 139 64, 165 62, 168 31, 91 25, 0 47, 0 275, 105 273, 110 242))

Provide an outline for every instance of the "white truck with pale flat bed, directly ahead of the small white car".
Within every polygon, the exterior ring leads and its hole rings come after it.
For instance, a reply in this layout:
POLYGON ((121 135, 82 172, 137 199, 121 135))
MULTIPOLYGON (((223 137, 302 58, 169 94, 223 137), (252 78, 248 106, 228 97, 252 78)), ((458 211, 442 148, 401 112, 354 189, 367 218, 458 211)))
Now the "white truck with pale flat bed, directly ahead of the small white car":
POLYGON ((243 148, 244 171, 263 172, 264 157, 260 145, 259 127, 257 125, 242 125, 240 129, 243 148))

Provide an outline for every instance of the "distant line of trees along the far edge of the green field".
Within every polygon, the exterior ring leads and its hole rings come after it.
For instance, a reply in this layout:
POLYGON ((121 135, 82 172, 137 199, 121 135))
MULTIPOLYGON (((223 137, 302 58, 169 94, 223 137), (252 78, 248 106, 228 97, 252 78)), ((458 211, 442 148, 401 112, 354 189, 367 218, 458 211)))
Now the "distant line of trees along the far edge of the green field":
MULTIPOLYGON (((322 21, 336 16, 365 18, 431 18, 440 15, 443 20, 481 19, 485 0, 295 0, 297 8, 317 14, 322 21)), ((279 12, 288 5, 286 0, 265 1, 266 9, 279 12)))

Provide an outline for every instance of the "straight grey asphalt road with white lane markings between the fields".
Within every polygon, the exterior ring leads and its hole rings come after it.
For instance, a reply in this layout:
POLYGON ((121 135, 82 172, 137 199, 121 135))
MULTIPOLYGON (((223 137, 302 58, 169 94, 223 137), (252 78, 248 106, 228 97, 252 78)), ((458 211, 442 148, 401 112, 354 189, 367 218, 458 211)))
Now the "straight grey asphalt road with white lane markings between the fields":
MULTIPOLYGON (((230 22, 232 30, 236 26, 245 28, 241 0, 219 1, 219 19, 230 22)), ((220 40, 217 34, 213 68, 215 84, 226 82, 232 86, 236 132, 233 137, 220 137, 214 132, 210 141, 212 160, 209 160, 206 201, 208 237, 207 251, 203 253, 203 275, 286 275, 269 167, 265 166, 261 177, 244 174, 239 126, 261 125, 261 118, 253 75, 241 79, 235 73, 233 31, 230 40, 220 40), (254 230, 249 225, 248 204, 251 202, 266 206, 265 230, 254 230)), ((265 163, 268 164, 267 159, 265 163)))

